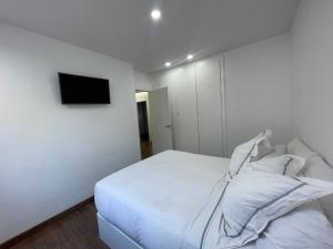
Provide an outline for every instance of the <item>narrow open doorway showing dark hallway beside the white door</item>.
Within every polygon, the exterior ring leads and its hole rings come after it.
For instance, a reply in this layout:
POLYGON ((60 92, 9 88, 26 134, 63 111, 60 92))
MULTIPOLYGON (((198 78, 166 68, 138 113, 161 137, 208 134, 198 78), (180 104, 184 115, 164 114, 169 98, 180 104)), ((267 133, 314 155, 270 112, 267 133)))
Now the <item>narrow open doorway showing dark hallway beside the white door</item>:
POLYGON ((151 136, 149 128, 149 95, 148 92, 137 92, 137 110, 138 110, 138 121, 139 121, 139 135, 140 135, 140 148, 141 158, 145 159, 152 156, 151 136))

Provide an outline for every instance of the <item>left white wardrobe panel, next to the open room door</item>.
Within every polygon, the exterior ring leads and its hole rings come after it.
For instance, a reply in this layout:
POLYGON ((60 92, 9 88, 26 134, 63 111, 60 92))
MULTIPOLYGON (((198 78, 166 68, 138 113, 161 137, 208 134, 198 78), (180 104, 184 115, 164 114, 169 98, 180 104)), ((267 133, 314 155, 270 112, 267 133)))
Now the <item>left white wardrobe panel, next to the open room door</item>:
POLYGON ((189 153, 199 153, 194 65, 185 65, 173 70, 169 80, 171 80, 169 86, 172 103, 174 148, 189 153))

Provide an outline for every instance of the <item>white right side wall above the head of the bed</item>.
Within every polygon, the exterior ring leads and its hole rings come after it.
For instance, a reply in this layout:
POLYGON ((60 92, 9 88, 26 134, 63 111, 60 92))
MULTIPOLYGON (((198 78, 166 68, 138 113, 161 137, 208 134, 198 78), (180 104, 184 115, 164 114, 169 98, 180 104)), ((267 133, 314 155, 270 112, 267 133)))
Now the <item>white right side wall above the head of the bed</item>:
POLYGON ((302 0, 292 29, 296 132, 331 164, 333 164, 332 13, 332 0, 302 0))

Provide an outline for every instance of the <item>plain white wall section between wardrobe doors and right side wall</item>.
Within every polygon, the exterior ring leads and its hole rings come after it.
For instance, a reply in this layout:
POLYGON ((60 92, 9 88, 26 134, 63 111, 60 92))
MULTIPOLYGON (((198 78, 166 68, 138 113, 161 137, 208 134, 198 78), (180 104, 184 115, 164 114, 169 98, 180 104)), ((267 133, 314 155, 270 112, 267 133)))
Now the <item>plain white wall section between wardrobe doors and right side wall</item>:
POLYGON ((229 155, 263 128, 275 144, 292 138, 291 44, 282 34, 224 54, 229 155))

